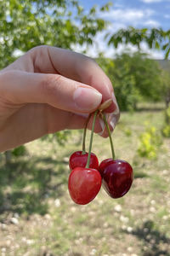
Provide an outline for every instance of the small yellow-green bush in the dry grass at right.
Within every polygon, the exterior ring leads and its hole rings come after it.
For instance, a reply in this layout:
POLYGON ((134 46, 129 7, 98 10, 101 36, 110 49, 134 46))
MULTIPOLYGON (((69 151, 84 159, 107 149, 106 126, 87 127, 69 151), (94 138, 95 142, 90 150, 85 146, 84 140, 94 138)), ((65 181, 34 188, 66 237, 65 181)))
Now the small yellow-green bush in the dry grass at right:
POLYGON ((145 131, 139 136, 138 154, 148 159, 156 159, 162 139, 155 126, 146 126, 145 131))

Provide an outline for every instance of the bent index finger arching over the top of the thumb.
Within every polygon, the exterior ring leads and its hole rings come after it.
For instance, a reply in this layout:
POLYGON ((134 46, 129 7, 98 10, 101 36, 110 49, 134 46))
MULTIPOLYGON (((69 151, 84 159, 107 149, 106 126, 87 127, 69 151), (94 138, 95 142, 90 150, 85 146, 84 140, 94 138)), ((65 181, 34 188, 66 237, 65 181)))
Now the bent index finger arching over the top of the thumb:
MULTIPOLYGON (((103 96, 103 102, 113 94, 111 80, 105 75, 99 65, 91 58, 71 50, 56 47, 40 46, 31 49, 34 69, 41 73, 59 73, 62 76, 88 84, 98 90, 103 96)), ((107 112, 117 110, 116 98, 107 112)))

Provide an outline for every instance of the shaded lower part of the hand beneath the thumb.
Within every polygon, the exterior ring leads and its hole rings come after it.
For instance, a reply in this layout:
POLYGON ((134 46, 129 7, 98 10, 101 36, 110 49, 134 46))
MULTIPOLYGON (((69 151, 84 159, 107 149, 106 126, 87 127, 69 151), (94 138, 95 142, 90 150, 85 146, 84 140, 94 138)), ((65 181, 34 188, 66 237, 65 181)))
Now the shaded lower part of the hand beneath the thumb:
MULTIPOLYGON (((27 104, 11 115, 0 131, 0 152, 29 143, 48 133, 65 129, 83 129, 86 119, 48 104, 27 104)), ((101 131, 98 119, 94 131, 101 131)))

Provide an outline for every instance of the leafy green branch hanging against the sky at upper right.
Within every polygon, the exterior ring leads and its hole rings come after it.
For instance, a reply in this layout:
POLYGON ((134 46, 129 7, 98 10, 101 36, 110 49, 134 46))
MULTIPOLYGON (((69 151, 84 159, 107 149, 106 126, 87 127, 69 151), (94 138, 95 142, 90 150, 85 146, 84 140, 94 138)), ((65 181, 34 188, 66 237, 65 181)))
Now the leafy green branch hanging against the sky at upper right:
POLYGON ((134 28, 129 26, 120 29, 111 35, 108 33, 106 38, 109 39, 108 44, 114 45, 116 48, 119 44, 137 45, 140 48, 142 42, 146 43, 152 49, 161 49, 165 52, 167 58, 170 54, 170 30, 163 31, 161 28, 134 28))

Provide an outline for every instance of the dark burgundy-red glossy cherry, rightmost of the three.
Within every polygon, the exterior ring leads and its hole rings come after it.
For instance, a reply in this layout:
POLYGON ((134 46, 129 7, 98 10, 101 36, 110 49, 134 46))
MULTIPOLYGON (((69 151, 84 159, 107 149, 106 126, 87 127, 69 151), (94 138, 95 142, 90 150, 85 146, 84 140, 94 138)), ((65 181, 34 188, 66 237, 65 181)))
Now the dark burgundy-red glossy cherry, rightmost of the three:
POLYGON ((127 194, 133 183, 133 168, 125 160, 103 160, 99 172, 105 191, 113 198, 127 194))

